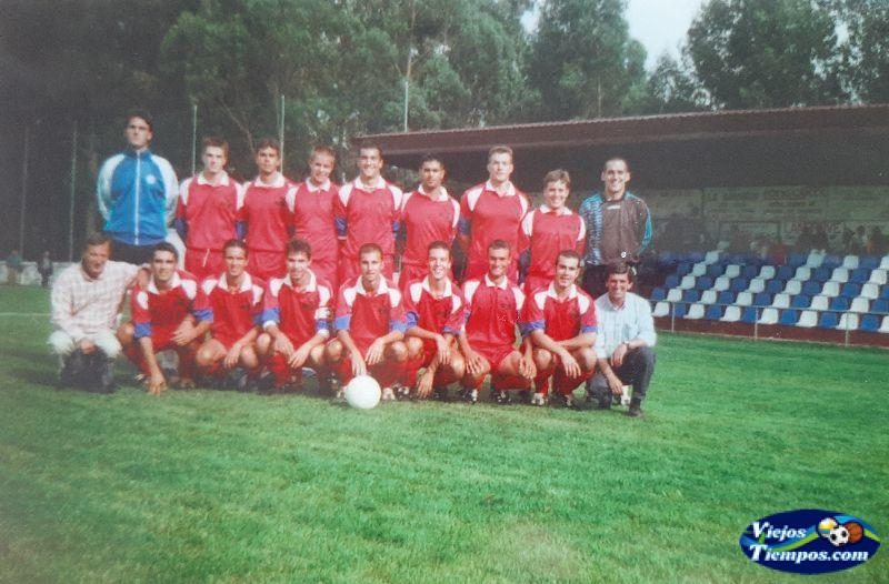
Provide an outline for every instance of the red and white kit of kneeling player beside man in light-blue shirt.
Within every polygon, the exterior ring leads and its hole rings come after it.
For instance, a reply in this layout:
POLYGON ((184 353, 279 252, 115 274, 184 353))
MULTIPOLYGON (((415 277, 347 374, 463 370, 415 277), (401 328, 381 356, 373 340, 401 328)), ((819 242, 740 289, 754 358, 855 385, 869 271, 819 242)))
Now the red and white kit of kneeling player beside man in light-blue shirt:
MULTIPOLYGON (((567 341, 579 334, 595 333, 596 304, 592 299, 576 284, 571 284, 565 299, 556 294, 556 286, 537 290, 528 300, 525 309, 522 334, 541 330, 553 341, 567 341)), ((592 376, 592 371, 582 373, 579 377, 568 377, 561 366, 561 359, 552 355, 552 366, 549 370, 538 370, 535 377, 535 387, 538 393, 549 393, 549 379, 553 376, 553 390, 562 395, 568 395, 580 383, 592 376)))

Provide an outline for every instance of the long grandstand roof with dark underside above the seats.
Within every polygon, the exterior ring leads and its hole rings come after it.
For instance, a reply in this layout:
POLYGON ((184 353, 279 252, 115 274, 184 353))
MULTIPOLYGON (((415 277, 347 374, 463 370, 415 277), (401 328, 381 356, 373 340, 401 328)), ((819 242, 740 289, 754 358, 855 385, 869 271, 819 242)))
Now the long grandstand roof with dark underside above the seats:
POLYGON ((451 179, 485 178, 491 145, 516 151, 516 180, 536 185, 565 168, 577 188, 602 162, 627 158, 636 187, 889 184, 889 104, 641 115, 364 137, 387 162, 414 168, 442 154, 451 179))

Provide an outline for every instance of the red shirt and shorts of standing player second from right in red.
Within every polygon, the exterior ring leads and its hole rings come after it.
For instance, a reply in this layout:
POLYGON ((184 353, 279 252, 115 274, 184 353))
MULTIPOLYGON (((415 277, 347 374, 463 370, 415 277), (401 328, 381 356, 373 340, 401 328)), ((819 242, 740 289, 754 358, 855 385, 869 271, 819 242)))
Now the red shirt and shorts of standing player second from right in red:
MULTIPOLYGON (((499 194, 489 182, 477 184, 460 199, 460 233, 471 236, 467 251, 463 280, 475 280, 488 272, 488 245, 503 240, 512 252, 512 265, 507 274, 518 276, 518 258, 527 246, 521 233, 521 220, 528 212, 528 198, 509 183, 506 193, 499 194)), ((466 250, 465 250, 466 251, 466 250)))

